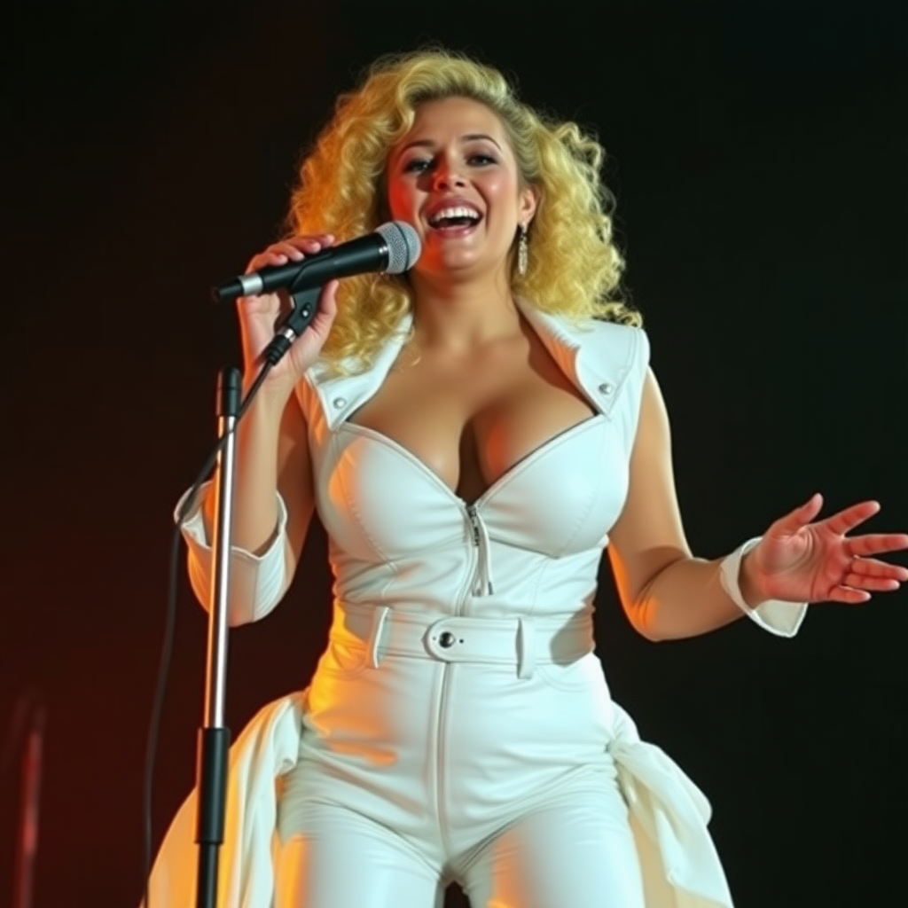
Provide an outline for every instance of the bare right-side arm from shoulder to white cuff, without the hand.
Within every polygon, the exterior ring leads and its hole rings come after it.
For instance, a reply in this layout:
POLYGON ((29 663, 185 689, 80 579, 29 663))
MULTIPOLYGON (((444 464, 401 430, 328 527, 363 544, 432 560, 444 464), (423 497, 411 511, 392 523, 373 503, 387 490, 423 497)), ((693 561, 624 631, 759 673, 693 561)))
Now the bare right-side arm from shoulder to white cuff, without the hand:
MULTIPOLYGON (((695 558, 687 545, 665 401, 651 370, 631 453, 627 502, 612 528, 608 553, 627 617, 648 639, 695 637, 744 614, 719 584, 719 559, 695 558)), ((741 571, 745 597, 748 558, 741 571)))

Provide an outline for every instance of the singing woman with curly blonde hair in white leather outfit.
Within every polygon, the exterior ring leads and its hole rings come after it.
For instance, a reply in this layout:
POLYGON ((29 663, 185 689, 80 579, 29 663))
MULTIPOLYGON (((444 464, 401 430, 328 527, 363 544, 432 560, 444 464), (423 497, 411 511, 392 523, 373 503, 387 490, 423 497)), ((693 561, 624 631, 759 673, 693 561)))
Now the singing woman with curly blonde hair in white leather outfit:
MULTIPOLYGON (((605 546, 654 640, 743 615, 791 635, 804 603, 908 578, 874 558, 908 537, 845 537, 873 502, 813 522, 818 496, 725 558, 691 555, 601 155, 489 68, 383 60, 305 163, 291 235, 250 262, 388 219, 422 247, 404 277, 327 286, 241 423, 232 624, 281 599, 314 508, 335 603, 311 686, 234 745, 224 903, 429 908, 456 880, 474 908, 731 905, 708 804, 593 654, 605 546)), ((280 305, 240 302, 247 387, 280 305)), ((183 527, 202 602, 209 507, 183 527)), ((186 816, 153 904, 185 884, 186 816)))

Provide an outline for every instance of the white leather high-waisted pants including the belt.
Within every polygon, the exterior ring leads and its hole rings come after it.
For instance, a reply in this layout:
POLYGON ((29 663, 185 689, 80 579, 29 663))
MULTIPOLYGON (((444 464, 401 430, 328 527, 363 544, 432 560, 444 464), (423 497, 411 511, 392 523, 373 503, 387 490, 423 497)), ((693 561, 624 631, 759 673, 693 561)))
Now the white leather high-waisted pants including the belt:
POLYGON ((284 776, 276 908, 643 908, 588 621, 339 609, 284 776))

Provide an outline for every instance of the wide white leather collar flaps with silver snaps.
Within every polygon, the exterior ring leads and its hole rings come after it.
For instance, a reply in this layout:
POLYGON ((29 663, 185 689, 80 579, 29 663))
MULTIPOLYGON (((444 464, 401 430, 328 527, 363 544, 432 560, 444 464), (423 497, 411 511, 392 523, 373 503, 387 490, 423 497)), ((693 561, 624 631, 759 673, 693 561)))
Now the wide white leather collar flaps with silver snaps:
MULTIPOLYGON (((521 315, 536 331, 548 354, 600 413, 609 416, 630 374, 643 332, 610 321, 589 320, 583 324, 539 311, 517 298, 521 315)), ((379 350, 369 369, 353 375, 330 375, 327 363, 316 363, 306 373, 321 401, 331 430, 358 410, 385 380, 413 322, 405 315, 389 341, 379 350)))

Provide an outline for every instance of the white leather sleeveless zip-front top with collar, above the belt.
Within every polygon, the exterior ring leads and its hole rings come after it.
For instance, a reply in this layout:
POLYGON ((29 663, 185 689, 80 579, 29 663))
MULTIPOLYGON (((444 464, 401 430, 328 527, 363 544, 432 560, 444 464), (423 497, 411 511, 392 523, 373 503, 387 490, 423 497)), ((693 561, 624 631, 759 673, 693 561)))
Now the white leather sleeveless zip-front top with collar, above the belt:
POLYGON ((627 497, 649 344, 637 328, 578 328, 521 310, 595 415, 548 439, 470 505, 396 441, 348 421, 379 390, 409 319, 370 370, 328 377, 315 367, 301 383, 339 602, 486 617, 592 610, 608 531, 627 497))

